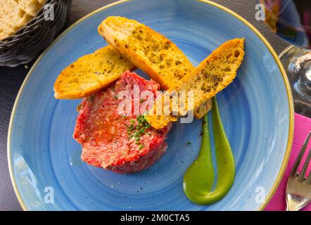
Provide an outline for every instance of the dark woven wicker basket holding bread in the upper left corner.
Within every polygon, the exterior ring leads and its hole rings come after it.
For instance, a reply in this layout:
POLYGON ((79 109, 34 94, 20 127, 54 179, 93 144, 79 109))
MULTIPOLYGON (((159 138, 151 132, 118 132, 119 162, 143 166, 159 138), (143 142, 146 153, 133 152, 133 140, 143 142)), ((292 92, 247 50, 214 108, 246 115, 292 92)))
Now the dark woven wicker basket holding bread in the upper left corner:
POLYGON ((46 49, 61 31, 72 0, 47 0, 52 4, 54 20, 44 19, 44 7, 37 15, 15 34, 0 41, 0 65, 17 66, 34 59, 46 49))

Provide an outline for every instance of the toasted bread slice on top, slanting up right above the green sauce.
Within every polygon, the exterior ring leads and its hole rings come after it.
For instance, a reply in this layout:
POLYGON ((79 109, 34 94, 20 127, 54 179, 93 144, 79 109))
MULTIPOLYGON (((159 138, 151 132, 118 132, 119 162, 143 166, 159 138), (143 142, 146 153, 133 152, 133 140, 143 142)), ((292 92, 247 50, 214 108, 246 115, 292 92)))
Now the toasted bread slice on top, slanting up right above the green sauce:
MULTIPOLYGON (((193 91, 193 98, 187 99, 184 103, 185 109, 178 111, 179 115, 185 115, 186 112, 198 108, 205 101, 215 96, 219 91, 227 87, 236 77, 236 71, 239 69, 244 56, 244 39, 232 39, 215 51, 208 58, 205 58, 189 75, 179 80, 170 89, 155 101, 155 106, 146 119, 152 127, 160 129, 169 122, 176 121, 172 115, 152 115, 155 114, 155 108, 158 104, 165 102, 165 95, 170 95, 172 91, 193 91), (191 103, 193 104, 189 104, 191 103), (190 106, 189 106, 190 105, 190 106)), ((170 103, 172 105, 172 103, 170 103)), ((161 106, 161 108, 164 108, 161 106)), ((172 106, 171 106, 172 108, 172 106)))

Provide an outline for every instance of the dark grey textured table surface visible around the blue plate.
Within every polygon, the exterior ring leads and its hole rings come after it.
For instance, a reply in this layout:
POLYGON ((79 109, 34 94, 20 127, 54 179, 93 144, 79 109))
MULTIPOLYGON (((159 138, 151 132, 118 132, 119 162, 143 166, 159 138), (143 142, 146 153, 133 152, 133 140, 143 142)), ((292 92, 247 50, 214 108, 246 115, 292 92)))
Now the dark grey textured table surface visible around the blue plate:
MULTIPOLYGON (((112 2, 114 1, 74 0, 64 29, 82 18, 82 16, 112 2)), ((255 20, 255 4, 257 4, 257 1, 215 0, 215 2, 227 6, 231 10, 242 15, 243 18, 246 18, 246 20, 264 34, 277 53, 281 53, 281 51, 288 46, 285 41, 273 34, 264 22, 255 20)), ((22 210, 13 191, 10 175, 8 174, 6 139, 8 134, 8 122, 10 120, 15 97, 32 63, 28 63, 27 66, 21 65, 18 68, 0 67, 0 210, 22 210)))

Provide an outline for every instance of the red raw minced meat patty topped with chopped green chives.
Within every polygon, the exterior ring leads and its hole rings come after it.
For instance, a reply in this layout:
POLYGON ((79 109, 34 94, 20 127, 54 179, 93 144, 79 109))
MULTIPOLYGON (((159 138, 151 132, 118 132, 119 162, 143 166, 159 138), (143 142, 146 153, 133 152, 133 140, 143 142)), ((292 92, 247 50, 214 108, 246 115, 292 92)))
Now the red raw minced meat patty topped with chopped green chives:
POLYGON ((134 99, 134 85, 154 96, 159 90, 158 83, 126 71, 115 84, 83 99, 73 137, 82 144, 84 162, 118 173, 139 172, 165 153, 171 124, 153 129, 144 116, 134 115, 133 100, 131 115, 118 113, 118 105, 124 100, 118 99, 119 91, 130 91, 134 99))

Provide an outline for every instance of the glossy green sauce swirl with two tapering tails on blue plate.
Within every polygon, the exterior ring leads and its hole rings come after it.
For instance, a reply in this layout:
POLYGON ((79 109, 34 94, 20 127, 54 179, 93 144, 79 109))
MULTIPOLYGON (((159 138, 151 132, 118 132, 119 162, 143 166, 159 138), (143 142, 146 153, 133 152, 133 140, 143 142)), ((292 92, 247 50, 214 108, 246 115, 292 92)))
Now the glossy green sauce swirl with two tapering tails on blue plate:
POLYGON ((203 117, 202 142, 198 158, 190 165, 184 174, 184 193, 193 203, 210 205, 215 203, 230 190, 235 176, 234 157, 227 136, 222 126, 217 101, 212 98, 212 130, 215 139, 217 162, 217 183, 212 190, 215 175, 212 166, 212 148, 208 130, 208 115, 203 117))

